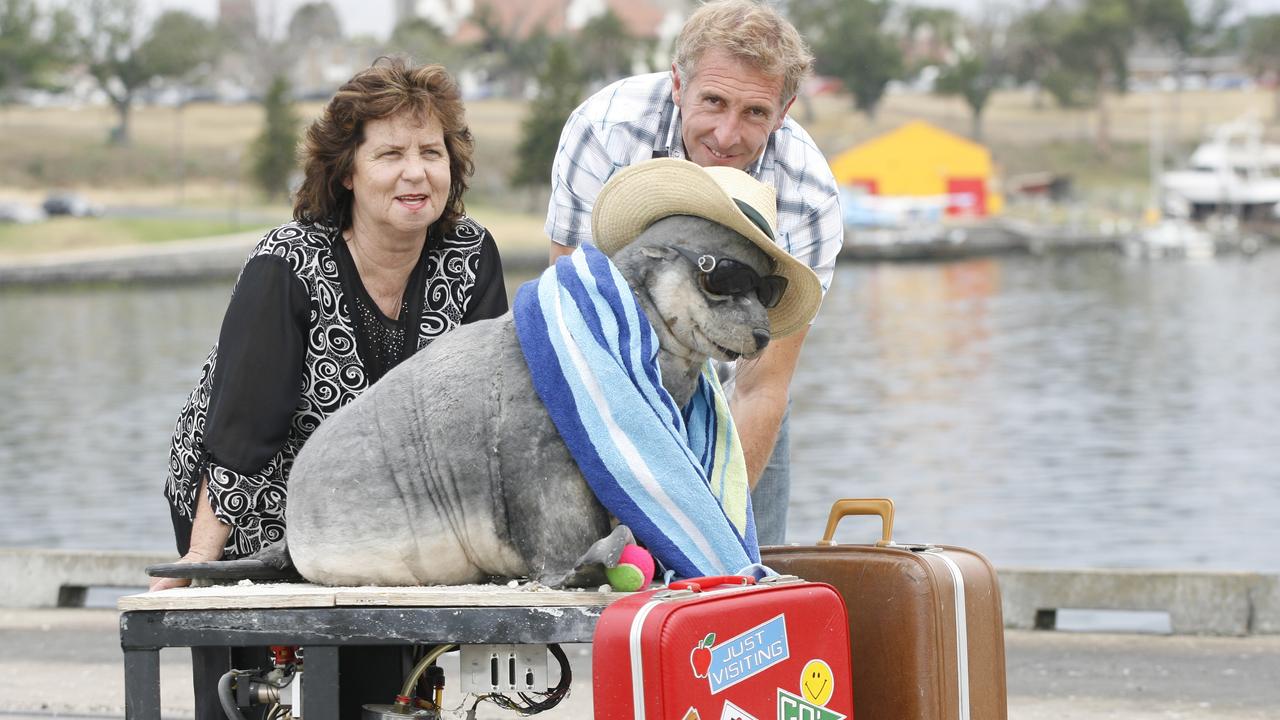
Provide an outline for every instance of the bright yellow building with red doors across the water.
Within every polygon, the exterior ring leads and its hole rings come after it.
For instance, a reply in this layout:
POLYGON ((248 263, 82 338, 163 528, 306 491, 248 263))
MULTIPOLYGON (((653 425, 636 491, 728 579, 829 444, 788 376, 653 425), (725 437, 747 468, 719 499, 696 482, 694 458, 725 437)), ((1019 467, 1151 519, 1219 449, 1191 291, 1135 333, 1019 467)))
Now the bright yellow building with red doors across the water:
POLYGON ((881 197, 936 199, 950 217, 1000 213, 991 151, 923 120, 850 147, 831 160, 836 182, 881 197))

